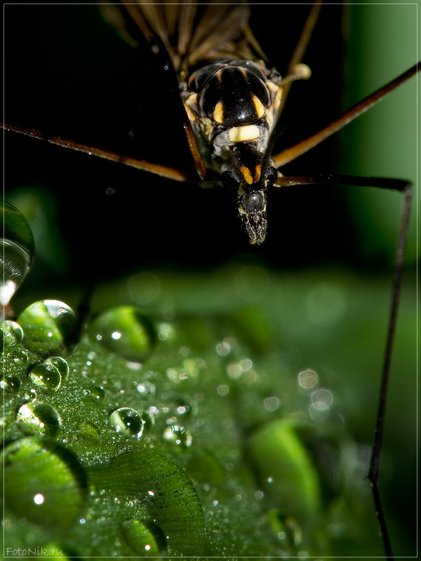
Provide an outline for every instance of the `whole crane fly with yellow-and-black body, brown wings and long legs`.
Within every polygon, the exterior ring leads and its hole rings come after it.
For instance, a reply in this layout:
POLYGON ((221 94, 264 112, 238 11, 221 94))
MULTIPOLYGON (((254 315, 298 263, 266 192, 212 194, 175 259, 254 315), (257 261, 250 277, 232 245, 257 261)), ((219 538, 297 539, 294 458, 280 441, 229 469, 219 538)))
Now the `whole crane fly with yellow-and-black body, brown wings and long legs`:
MULTIPOLYGON (((114 6, 115 8, 115 6, 114 6)), ((260 245, 267 236, 267 191, 269 187, 293 187, 314 184, 349 184, 403 191, 405 207, 399 238, 398 257, 394 277, 394 296, 389 324, 385 366, 383 369, 379 416, 369 479, 373 487, 376 510, 385 551, 392 556, 387 526, 382 517, 377 491, 381 437, 384 423, 385 393, 392 353, 394 327, 403 267, 403 251, 408 229, 410 185, 403 180, 375 177, 360 178, 345 175, 302 175, 288 177, 279 169, 295 160, 321 140, 340 130, 363 111, 382 99, 417 72, 415 65, 349 109, 333 123, 307 139, 276 153, 273 139, 276 122, 281 116, 294 81, 309 78, 309 69, 302 64, 307 43, 316 24, 320 3, 309 11, 297 48, 293 51, 285 74, 269 64, 265 53, 255 40, 248 25, 248 8, 244 4, 148 5, 122 4, 119 13, 128 16, 130 24, 123 33, 141 42, 146 37, 151 44, 152 59, 156 57, 164 73, 168 74, 171 95, 180 94, 178 116, 185 130, 194 165, 178 169, 149 163, 114 151, 98 149, 88 144, 64 140, 54 133, 24 129, 8 123, 5 128, 35 138, 41 138, 76 151, 86 152, 160 175, 178 182, 199 184, 222 181, 228 191, 236 195, 238 214, 252 245, 260 245), (133 27, 133 22, 135 26, 133 27), (172 22, 172 23, 171 23, 172 22), (171 29, 168 26, 172 25, 171 29), (139 35, 139 30, 141 36, 139 35), (209 31, 210 30, 210 31, 209 31), (226 86, 225 84, 231 84, 226 86), (179 88, 179 91, 178 91, 179 88), (215 89, 213 89, 215 88, 215 89), (232 91, 241 92, 241 103, 232 100, 232 91), (243 91, 246 95, 243 95, 243 91), (241 110, 240 110, 241 109, 241 110)), ((116 23, 115 13, 108 18, 116 23)), ((180 187, 178 187, 180 189, 180 187)), ((269 224, 270 232, 270 224, 269 224)))

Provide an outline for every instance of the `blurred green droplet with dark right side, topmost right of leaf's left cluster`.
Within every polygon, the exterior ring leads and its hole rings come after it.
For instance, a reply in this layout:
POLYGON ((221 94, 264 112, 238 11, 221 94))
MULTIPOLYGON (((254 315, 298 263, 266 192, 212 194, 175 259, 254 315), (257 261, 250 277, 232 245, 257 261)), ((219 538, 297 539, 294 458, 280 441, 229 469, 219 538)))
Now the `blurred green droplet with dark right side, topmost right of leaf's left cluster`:
POLYGON ((132 362, 145 360, 156 342, 149 318, 131 306, 101 313, 91 323, 89 331, 107 349, 132 362))

